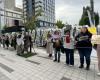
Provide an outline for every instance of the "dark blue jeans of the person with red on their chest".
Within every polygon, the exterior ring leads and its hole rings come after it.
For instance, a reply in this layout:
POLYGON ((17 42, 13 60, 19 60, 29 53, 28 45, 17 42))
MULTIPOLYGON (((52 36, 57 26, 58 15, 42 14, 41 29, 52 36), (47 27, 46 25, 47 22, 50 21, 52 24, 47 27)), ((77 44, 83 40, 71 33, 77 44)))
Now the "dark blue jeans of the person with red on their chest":
POLYGON ((66 64, 74 65, 74 50, 65 49, 66 53, 66 64))

